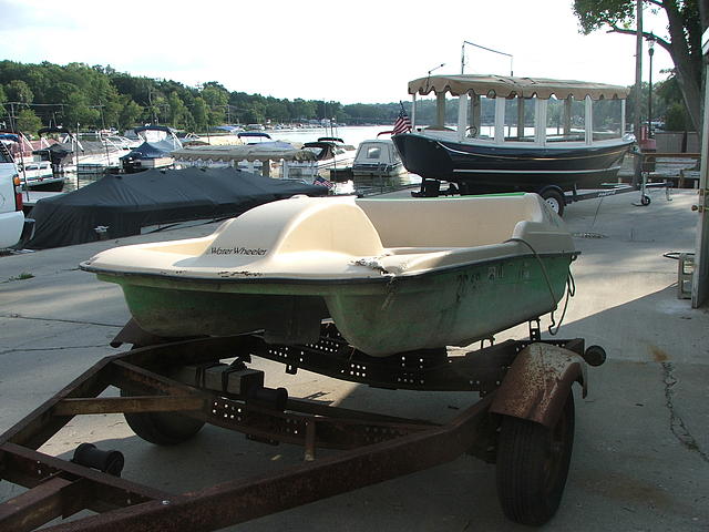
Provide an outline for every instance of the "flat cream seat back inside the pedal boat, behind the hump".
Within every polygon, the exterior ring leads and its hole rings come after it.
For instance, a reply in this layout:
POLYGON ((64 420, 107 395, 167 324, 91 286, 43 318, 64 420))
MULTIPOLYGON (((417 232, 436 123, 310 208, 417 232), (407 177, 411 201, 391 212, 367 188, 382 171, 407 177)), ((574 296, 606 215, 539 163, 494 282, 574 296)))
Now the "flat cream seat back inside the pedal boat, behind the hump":
POLYGON ((500 244, 520 222, 543 222, 536 194, 420 200, 358 200, 384 247, 500 244))

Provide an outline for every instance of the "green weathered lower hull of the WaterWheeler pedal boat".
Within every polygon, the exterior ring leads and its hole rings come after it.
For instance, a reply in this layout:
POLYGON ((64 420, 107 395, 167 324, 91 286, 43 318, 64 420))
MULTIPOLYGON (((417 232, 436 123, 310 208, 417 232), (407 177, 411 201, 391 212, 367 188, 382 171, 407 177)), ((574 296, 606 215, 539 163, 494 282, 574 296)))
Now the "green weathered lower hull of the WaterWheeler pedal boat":
POLYGON ((158 336, 265 330, 273 344, 308 344, 317 340, 321 320, 331 318, 350 345, 384 357, 467 345, 553 310, 573 257, 511 256, 393 280, 99 275, 122 286, 135 320, 158 336))

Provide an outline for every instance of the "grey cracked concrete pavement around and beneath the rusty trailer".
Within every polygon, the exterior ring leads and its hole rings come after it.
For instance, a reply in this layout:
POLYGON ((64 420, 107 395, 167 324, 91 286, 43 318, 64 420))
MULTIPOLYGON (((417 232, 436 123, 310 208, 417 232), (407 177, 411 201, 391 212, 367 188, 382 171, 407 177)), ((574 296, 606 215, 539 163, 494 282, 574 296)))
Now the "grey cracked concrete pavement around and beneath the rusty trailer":
MULTIPOLYGON (((577 396, 576 438, 562 507, 551 531, 709 530, 709 314, 676 297, 677 263, 666 252, 693 247, 691 192, 648 207, 635 194, 569 205, 565 218, 582 256, 576 297, 559 337, 604 346, 608 360, 589 368, 589 395, 577 396), (628 241, 628 235, 633 235, 628 241), (603 238, 594 237, 604 235, 603 238)), ((124 239, 117 244, 202 236, 212 226, 124 239)), ((115 242, 0 257, 0 431, 27 416, 115 349, 109 341, 127 320, 120 288, 76 270, 115 242)), ((548 318, 542 329, 546 331, 548 318)), ((526 325, 506 337, 521 338, 526 325)), ((450 417, 467 393, 370 389, 269 361, 267 386, 294 396, 412 417, 450 417)), ((115 393, 111 390, 110 393, 115 393)), ((126 456, 123 477, 167 491, 198 489, 300 463, 291 446, 269 447, 207 427, 175 448, 135 437, 121 416, 75 418, 45 446, 66 457, 90 441, 126 456)), ((17 494, 0 482, 0 499, 17 494)), ((309 532, 382 530, 515 531, 502 515, 492 466, 471 457, 367 489, 263 518, 234 530, 309 532)))

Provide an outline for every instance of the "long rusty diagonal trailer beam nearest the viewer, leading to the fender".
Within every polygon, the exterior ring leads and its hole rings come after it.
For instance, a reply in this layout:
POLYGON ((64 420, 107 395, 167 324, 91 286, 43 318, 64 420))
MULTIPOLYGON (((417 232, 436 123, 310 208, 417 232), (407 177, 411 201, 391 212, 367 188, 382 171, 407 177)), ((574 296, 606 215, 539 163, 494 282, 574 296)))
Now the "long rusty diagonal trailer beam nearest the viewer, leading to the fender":
POLYGON ((453 460, 476 437, 492 396, 445 427, 288 468, 63 523, 53 532, 208 531, 453 460))

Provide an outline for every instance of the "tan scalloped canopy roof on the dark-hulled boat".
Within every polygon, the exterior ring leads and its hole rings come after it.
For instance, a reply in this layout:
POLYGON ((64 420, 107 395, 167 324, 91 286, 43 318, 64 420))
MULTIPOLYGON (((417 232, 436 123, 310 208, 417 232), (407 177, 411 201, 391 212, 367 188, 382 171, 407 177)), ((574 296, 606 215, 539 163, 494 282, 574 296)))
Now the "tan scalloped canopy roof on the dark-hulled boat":
POLYGON ((574 96, 583 100, 625 99, 630 89, 620 85, 589 83, 585 81, 551 80, 546 78, 511 78, 505 75, 430 75, 409 82, 409 94, 429 94, 450 92, 461 94, 487 95, 494 93, 501 98, 541 98, 548 100, 554 94, 559 100, 574 96))

